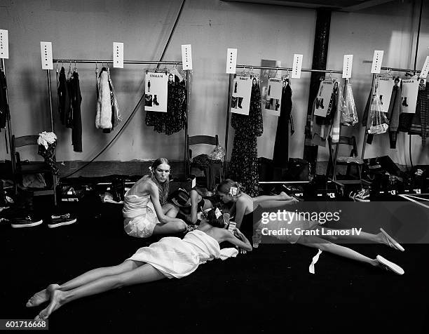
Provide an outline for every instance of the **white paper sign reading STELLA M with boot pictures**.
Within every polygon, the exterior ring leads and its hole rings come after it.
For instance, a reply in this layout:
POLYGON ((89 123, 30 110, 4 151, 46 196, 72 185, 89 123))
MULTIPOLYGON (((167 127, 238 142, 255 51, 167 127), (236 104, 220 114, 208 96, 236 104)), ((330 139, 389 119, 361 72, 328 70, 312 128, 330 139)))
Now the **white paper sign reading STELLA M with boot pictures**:
MULTIPOLYGON (((144 83, 144 110, 167 112, 167 83, 169 74, 149 72, 144 83)), ((174 77, 174 76, 173 76, 174 77)))

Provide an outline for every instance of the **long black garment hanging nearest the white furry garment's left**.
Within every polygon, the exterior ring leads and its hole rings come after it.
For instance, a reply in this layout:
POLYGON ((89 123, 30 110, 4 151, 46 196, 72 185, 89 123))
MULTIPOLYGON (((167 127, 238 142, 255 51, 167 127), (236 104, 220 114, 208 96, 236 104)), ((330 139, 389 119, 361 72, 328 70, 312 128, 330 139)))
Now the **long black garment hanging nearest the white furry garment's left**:
POLYGON ((74 152, 82 152, 82 116, 81 116, 81 87, 79 85, 79 74, 75 70, 71 79, 71 91, 69 91, 71 100, 71 109, 73 111, 71 127, 71 145, 74 152))

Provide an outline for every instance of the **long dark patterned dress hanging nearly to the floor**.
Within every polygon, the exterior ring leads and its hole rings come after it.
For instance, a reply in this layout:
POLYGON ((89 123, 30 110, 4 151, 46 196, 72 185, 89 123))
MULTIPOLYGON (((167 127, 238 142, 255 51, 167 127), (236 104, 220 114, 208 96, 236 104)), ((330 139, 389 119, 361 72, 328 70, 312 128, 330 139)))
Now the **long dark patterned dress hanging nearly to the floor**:
POLYGON ((231 126, 236 130, 229 173, 249 196, 259 195, 257 137, 264 131, 259 85, 252 85, 249 115, 232 114, 231 126))

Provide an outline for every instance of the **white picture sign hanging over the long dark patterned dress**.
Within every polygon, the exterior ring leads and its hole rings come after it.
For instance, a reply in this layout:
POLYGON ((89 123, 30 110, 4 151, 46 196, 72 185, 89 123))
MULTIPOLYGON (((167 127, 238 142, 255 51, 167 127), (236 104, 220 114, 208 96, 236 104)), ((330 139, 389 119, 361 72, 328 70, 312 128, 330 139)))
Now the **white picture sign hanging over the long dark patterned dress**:
POLYGON ((243 115, 249 114, 252 84, 259 85, 256 77, 250 78, 250 76, 236 76, 233 81, 231 112, 243 115))

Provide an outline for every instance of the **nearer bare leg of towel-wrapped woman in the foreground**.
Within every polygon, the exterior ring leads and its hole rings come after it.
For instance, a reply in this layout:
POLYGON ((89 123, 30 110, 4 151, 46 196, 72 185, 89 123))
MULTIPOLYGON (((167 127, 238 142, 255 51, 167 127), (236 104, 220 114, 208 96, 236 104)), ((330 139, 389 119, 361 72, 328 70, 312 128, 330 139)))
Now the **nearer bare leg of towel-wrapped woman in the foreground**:
POLYGON ((79 298, 86 297, 88 295, 96 295, 107 290, 114 288, 121 288, 123 286, 130 286, 137 283, 147 283, 151 281, 158 281, 163 279, 165 276, 158 272, 153 266, 144 264, 141 267, 132 269, 129 272, 123 272, 121 274, 104 276, 100 279, 92 281, 90 283, 79 286, 68 291, 53 290, 50 295, 50 303, 46 309, 43 309, 39 315, 34 318, 36 321, 43 321, 48 319, 48 316, 56 309, 59 309, 62 305, 76 300, 79 298))

